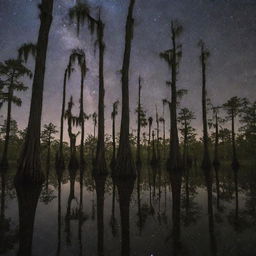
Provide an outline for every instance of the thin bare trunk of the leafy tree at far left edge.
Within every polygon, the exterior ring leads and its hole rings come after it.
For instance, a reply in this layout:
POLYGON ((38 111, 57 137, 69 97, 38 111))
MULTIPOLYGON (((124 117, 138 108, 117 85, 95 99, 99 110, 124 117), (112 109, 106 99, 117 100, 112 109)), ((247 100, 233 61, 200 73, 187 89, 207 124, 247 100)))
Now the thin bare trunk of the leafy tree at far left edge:
POLYGON ((7 119, 6 119, 6 134, 4 141, 4 150, 1 161, 1 169, 8 169, 8 148, 9 148, 9 140, 10 140, 10 129, 11 129, 11 111, 12 111, 12 97, 13 97, 13 76, 14 71, 11 77, 11 84, 8 91, 8 106, 7 106, 7 119))

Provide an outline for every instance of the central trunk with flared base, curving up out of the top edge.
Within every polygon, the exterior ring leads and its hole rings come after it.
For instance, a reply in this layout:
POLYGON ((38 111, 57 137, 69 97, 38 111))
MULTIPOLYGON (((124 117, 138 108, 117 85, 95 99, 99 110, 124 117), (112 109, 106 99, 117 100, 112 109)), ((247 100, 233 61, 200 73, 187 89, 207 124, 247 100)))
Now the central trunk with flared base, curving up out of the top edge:
POLYGON ((131 43, 133 38, 133 9, 135 0, 130 0, 129 11, 126 21, 125 51, 122 67, 122 118, 120 131, 120 144, 117 154, 115 176, 136 177, 136 170, 132 159, 131 146, 129 141, 129 67, 131 55, 131 43))

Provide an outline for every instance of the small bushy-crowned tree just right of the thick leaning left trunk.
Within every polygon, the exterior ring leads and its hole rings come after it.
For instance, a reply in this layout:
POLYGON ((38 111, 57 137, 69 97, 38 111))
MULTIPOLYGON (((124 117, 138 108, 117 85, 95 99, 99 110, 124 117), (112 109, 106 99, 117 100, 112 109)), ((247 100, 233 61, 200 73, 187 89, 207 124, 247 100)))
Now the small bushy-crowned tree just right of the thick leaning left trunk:
POLYGON ((58 131, 56 129, 56 125, 54 125, 53 123, 45 124, 43 126, 43 131, 41 132, 41 140, 47 148, 47 157, 46 157, 47 178, 48 178, 50 162, 51 162, 51 143, 54 140, 54 135, 56 133, 58 133, 58 131))

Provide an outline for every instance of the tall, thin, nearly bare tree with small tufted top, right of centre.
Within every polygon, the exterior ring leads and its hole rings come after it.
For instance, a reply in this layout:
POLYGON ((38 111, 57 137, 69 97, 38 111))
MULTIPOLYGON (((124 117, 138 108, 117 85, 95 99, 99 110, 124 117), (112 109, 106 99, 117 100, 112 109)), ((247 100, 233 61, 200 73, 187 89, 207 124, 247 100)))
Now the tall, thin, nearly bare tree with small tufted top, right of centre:
POLYGON ((210 56, 209 50, 206 48, 205 43, 200 40, 198 43, 200 47, 200 63, 202 68, 202 113, 203 113, 203 143, 204 143, 204 155, 202 161, 202 168, 208 170, 211 168, 211 160, 209 154, 209 138, 208 138, 208 126, 207 126, 207 101, 206 101, 206 65, 207 59, 210 56))

